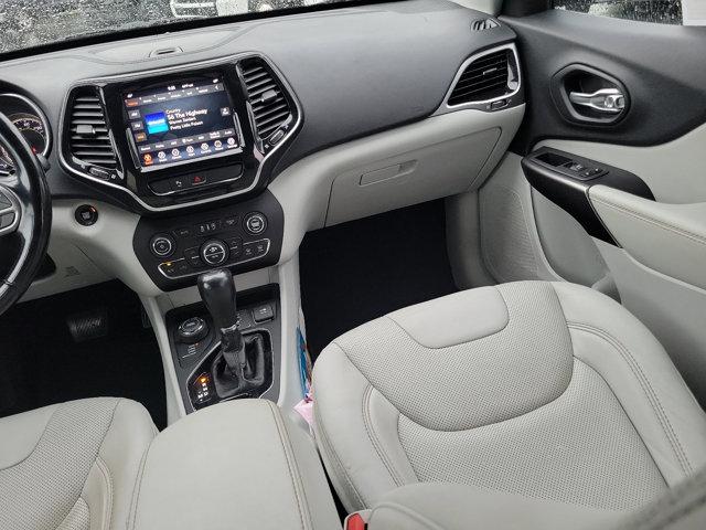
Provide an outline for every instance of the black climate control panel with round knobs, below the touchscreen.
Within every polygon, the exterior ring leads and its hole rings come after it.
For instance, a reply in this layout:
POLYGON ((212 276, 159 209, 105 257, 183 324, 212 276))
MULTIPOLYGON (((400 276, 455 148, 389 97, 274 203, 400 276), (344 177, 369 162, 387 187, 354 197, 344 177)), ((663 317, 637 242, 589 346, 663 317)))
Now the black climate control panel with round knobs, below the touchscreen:
POLYGON ((256 199, 207 212, 142 218, 132 245, 162 290, 193 285, 199 274, 227 267, 244 273, 279 261, 284 214, 266 191, 256 199))

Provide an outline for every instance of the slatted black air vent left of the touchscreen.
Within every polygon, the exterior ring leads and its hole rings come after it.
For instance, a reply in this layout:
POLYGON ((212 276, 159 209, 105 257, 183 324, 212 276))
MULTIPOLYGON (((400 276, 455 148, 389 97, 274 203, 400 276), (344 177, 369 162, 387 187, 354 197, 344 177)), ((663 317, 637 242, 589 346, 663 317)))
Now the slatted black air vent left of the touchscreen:
POLYGON ((78 161, 115 169, 117 159, 110 141, 105 110, 94 87, 77 88, 68 110, 68 149, 78 161))

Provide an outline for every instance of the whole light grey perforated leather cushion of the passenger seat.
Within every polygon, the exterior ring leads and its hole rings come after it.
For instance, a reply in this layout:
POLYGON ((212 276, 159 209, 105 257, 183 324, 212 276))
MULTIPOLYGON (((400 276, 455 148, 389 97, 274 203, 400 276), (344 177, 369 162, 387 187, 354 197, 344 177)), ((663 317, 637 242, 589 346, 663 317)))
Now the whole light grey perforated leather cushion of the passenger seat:
POLYGON ((664 349, 571 284, 483 287, 373 320, 327 347, 314 390, 349 510, 417 481, 627 510, 706 464, 706 417, 664 349))

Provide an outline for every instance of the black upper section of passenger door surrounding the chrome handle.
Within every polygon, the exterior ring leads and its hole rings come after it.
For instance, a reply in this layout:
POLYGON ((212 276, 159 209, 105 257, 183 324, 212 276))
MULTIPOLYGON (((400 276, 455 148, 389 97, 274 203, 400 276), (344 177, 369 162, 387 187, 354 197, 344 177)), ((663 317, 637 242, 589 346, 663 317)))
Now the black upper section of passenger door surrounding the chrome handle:
POLYGON ((559 10, 501 20, 517 33, 531 103, 513 145, 515 152, 527 153, 543 138, 650 146, 677 138, 706 121, 704 28, 559 10), (577 126, 561 114, 552 95, 552 80, 577 64, 624 86, 630 108, 623 119, 613 125, 577 126))

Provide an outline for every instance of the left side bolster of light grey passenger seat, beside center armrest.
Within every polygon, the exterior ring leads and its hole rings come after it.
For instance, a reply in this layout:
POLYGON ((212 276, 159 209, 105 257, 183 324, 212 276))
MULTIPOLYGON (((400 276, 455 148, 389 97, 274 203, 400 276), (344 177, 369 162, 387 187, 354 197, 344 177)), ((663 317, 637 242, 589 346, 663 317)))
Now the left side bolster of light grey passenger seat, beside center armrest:
POLYGON ((398 486, 396 478, 414 477, 402 446, 395 447, 399 445, 396 428, 393 427, 392 435, 389 425, 379 431, 381 414, 387 424, 396 410, 392 405, 382 406, 379 401, 384 398, 379 394, 379 399, 372 396, 375 404, 366 410, 367 398, 371 398, 366 394, 372 390, 370 382, 338 344, 330 344, 321 353, 313 381, 317 442, 329 476, 349 511, 370 507, 398 486), (374 433, 371 433, 372 425, 374 433), (391 463, 395 466, 392 473, 391 463))

